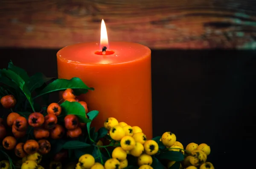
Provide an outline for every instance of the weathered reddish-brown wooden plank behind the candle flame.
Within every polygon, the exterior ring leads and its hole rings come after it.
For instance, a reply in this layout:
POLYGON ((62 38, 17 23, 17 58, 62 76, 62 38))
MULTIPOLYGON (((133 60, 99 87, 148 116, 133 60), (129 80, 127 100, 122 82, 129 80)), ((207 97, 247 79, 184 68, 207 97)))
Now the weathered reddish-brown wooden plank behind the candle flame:
POLYGON ((0 0, 0 46, 109 41, 151 49, 256 49, 255 0, 0 0))

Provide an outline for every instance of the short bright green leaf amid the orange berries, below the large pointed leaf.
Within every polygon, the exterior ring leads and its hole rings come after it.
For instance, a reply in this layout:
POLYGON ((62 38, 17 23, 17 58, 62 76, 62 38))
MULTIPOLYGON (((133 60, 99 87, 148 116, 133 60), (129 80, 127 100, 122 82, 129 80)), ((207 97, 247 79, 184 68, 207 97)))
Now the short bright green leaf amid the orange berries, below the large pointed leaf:
POLYGON ((76 115, 81 123, 89 123, 90 119, 85 117, 85 109, 78 102, 64 101, 61 103, 61 114, 63 115, 76 115))

